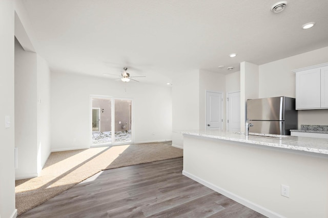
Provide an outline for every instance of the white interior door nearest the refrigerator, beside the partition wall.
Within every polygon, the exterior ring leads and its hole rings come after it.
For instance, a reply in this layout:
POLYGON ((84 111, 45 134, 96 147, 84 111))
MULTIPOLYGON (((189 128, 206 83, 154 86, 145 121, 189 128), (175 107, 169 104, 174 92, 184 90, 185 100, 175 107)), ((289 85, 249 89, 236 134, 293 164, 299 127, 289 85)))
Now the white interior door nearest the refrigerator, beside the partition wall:
POLYGON ((240 132, 240 92, 228 93, 227 98, 227 129, 240 132))

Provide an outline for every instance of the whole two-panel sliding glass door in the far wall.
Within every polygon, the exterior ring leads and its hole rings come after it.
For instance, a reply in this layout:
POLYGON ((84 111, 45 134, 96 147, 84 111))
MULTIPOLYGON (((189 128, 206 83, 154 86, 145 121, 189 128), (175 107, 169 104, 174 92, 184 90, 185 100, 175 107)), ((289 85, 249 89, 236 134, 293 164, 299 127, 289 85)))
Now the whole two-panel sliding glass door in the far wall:
POLYGON ((91 111, 93 147, 132 142, 131 99, 92 96, 91 111))

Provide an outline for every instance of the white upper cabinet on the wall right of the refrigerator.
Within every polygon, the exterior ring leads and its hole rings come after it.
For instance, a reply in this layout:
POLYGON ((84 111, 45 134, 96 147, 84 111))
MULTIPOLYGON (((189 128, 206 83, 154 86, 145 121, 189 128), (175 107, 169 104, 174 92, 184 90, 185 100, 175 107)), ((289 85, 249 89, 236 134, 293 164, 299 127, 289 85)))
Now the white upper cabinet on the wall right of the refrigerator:
POLYGON ((296 72, 296 110, 328 108, 328 63, 296 72))

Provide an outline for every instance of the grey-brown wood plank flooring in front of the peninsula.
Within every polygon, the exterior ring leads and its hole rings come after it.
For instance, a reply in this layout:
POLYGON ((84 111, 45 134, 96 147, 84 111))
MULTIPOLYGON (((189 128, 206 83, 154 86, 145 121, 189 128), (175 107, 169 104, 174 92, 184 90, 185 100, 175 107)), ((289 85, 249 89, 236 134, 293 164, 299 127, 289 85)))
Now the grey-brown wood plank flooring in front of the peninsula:
POLYGON ((265 217, 183 176, 182 162, 100 172, 18 217, 265 217))

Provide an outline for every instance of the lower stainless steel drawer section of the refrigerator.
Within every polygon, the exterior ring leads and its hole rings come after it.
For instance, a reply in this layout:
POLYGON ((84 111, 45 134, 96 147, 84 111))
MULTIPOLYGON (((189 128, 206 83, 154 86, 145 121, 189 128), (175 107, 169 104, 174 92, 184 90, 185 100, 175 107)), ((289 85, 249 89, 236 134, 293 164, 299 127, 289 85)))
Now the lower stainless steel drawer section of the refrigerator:
POLYGON ((285 130, 284 125, 284 121, 249 120, 249 132, 274 135, 290 135, 290 131, 285 130), (253 126, 250 124, 253 124, 253 126))

